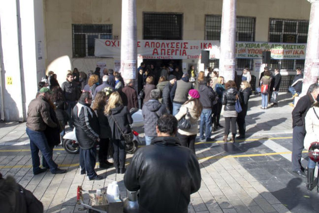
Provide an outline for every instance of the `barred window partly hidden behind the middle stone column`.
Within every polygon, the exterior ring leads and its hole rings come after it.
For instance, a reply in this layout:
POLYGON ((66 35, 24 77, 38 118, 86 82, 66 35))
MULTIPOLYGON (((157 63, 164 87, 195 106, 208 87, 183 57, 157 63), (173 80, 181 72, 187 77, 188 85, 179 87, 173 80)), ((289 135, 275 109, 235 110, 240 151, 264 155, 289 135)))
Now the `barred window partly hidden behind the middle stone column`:
MULTIPOLYGON (((205 16, 205 39, 221 40, 222 16, 205 16)), ((236 41, 255 41, 255 18, 236 18, 236 41)), ((210 60, 209 66, 218 67, 219 60, 210 60)), ((245 67, 252 68, 253 60, 247 58, 236 59, 236 70, 243 70, 245 67)))

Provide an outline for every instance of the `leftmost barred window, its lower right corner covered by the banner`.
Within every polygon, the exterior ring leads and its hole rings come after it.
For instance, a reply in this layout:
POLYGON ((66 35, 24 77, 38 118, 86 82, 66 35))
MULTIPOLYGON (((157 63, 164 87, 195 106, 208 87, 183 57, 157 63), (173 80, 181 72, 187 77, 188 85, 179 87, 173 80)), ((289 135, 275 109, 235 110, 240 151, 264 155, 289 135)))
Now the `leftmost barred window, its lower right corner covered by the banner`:
POLYGON ((94 56, 96 38, 112 39, 112 25, 72 25, 73 57, 94 56))

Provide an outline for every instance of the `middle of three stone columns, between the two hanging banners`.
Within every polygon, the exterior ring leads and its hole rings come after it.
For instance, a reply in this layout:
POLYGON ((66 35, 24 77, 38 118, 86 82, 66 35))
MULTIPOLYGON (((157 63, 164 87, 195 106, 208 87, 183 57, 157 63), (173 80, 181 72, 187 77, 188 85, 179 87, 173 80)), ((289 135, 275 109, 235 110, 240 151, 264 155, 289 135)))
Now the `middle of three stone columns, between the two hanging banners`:
POLYGON ((223 0, 220 76, 225 82, 235 78, 236 0, 223 0))

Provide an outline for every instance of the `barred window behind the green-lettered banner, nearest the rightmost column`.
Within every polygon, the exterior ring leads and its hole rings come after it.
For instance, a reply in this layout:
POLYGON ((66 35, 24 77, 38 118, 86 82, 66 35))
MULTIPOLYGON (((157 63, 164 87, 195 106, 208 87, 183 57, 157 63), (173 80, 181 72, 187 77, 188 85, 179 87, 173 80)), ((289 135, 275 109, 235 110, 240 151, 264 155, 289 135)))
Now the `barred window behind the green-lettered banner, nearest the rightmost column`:
MULTIPOLYGON (((309 21, 269 19, 269 42, 307 43, 309 21)), ((303 69, 305 60, 271 60, 270 69, 295 70, 303 69)))

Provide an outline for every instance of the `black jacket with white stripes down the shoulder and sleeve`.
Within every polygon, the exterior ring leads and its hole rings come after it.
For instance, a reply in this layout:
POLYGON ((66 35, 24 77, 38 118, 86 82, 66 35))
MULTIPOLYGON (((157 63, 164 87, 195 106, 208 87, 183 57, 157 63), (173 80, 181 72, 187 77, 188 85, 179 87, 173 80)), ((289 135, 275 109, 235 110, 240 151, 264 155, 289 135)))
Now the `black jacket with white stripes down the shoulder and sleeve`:
POLYGON ((77 103, 73 108, 75 136, 82 149, 91 149, 99 137, 96 113, 89 104, 77 103))

